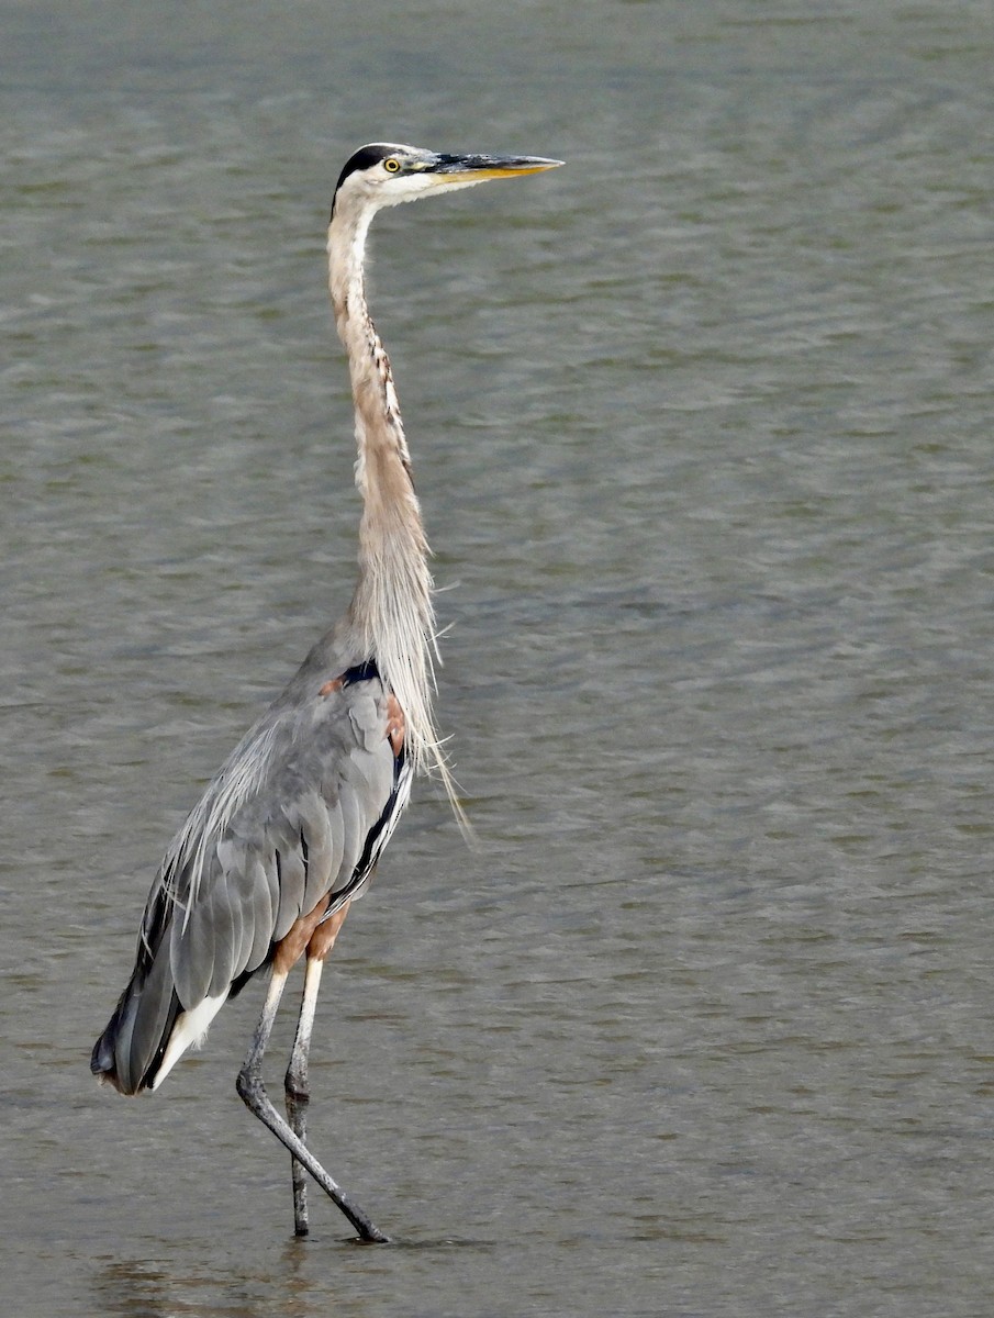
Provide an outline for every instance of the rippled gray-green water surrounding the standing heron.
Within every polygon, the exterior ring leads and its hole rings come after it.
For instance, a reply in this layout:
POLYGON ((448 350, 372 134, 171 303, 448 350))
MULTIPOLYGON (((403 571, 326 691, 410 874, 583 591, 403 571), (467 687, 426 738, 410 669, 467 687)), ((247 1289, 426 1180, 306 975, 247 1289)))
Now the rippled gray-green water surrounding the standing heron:
MULTIPOLYGON (((3 5, 4 1306, 986 1315, 986 0, 3 5), (312 1144, 88 1050, 173 830, 347 602, 323 225, 377 221, 436 550, 431 783, 326 975, 312 1144)), ((279 1087, 289 1023, 270 1075, 279 1087)))

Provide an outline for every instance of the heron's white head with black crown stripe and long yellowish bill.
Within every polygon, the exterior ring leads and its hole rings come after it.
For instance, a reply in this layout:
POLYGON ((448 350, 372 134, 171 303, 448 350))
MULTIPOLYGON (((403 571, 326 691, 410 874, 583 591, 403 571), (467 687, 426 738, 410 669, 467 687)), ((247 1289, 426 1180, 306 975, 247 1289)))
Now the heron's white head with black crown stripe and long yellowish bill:
POLYGON ((331 214, 343 206, 372 214, 430 192, 472 187, 490 178, 538 174, 562 163, 541 156, 439 156, 419 146, 372 142, 360 146, 343 169, 331 214))

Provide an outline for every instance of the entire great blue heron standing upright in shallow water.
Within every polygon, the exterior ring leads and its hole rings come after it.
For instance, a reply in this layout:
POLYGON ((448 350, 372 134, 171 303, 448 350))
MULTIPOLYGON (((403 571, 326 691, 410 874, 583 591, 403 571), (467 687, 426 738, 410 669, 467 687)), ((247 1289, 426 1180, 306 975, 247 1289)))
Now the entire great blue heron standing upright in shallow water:
POLYGON ((134 970, 90 1062, 123 1094, 158 1089, 227 999, 269 969, 237 1090, 293 1155, 298 1235, 308 1228, 306 1170, 364 1240, 386 1240, 307 1148, 307 1054, 324 958, 407 804, 415 771, 434 764, 452 796, 432 716, 428 547, 390 361, 366 307, 366 233, 385 206, 560 163, 376 142, 343 169, 328 224, 328 287, 356 409, 359 583, 345 616, 235 747, 170 844, 149 892, 134 970), (302 956, 283 1119, 262 1083, 262 1054, 302 956))

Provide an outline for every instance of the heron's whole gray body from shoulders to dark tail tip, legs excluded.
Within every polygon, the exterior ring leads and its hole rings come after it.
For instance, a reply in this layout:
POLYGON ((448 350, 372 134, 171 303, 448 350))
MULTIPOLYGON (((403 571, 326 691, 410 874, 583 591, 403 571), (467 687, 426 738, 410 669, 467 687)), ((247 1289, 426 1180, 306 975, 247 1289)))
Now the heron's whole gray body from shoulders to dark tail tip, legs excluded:
POLYGON ((134 973, 94 1049, 94 1070, 123 1091, 154 1082, 182 1012, 237 991, 319 902, 361 891, 389 838, 410 766, 388 739, 374 666, 341 664, 327 641, 315 647, 166 853, 134 973))

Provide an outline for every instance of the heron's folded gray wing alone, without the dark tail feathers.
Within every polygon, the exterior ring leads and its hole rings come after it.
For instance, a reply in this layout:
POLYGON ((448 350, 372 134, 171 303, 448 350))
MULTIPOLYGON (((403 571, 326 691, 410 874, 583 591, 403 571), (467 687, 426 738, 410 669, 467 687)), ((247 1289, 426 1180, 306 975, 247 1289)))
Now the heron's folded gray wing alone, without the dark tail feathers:
POLYGON ((225 766, 162 882, 178 912, 183 1008, 258 969, 270 945, 352 880, 394 789, 378 679, 277 708, 225 766))

